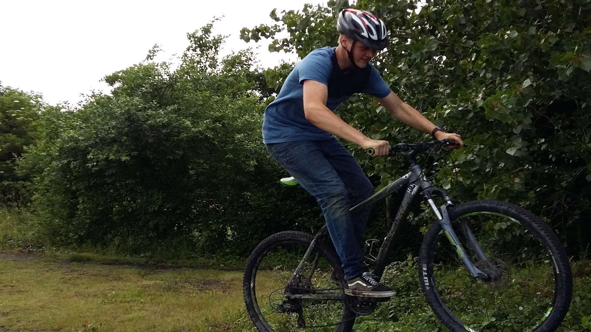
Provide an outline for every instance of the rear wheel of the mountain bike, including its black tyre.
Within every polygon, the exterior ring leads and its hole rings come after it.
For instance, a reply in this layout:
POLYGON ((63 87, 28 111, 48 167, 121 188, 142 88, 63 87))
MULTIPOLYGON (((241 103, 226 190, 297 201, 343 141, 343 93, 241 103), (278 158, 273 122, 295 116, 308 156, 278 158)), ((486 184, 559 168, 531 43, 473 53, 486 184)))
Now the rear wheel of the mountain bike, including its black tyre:
MULTIPOLYGON (((313 236, 303 232, 281 232, 267 237, 252 252, 243 279, 246 309, 259 331, 348 332, 355 314, 342 300, 293 299, 290 294, 314 295, 318 292, 344 298, 343 289, 330 281, 333 271, 343 278, 334 249, 319 239, 295 282, 288 285, 293 272, 309 248, 313 236)), ((329 240, 329 239, 327 239, 329 240)))

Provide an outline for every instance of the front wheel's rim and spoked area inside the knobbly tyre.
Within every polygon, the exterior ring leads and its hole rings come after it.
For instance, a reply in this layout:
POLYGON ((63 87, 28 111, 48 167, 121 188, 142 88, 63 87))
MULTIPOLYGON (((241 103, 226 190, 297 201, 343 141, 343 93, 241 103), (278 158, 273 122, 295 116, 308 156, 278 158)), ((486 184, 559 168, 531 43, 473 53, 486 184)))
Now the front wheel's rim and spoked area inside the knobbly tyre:
POLYGON ((472 278, 440 232, 433 243, 429 284, 449 317, 468 331, 534 331, 541 326, 554 308, 558 277, 547 243, 501 213, 466 213, 454 220, 459 222, 470 224, 491 259, 479 262, 460 227, 454 227, 472 262, 490 278, 472 278))

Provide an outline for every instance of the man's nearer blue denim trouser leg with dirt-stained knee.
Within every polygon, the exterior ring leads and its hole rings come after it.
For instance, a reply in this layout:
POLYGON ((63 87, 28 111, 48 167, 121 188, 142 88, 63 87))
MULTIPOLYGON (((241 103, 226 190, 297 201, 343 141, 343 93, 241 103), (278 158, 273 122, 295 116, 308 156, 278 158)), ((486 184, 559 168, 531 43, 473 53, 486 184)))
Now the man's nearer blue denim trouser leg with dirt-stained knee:
POLYGON ((267 144, 267 149, 318 200, 330 238, 342 262, 345 279, 352 279, 368 271, 368 267, 363 262, 363 251, 358 245, 358 227, 353 225, 349 213, 349 191, 335 167, 327 160, 321 142, 272 143, 267 144))

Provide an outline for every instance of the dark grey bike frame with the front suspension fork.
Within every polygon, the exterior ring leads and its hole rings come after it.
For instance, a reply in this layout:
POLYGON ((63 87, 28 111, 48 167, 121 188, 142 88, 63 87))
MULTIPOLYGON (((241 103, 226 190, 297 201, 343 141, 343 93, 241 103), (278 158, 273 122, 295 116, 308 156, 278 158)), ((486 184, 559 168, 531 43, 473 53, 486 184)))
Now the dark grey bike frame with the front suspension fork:
MULTIPOLYGON (((375 262, 374 274, 378 277, 378 279, 381 278, 382 274, 384 273, 384 269, 388 263, 387 256, 388 256, 388 253, 392 249, 392 245, 393 245, 392 240, 394 240, 394 237, 396 236, 397 231, 400 228, 402 222, 404 222, 404 220, 406 220, 406 218, 408 216, 408 206, 410 206, 410 204, 413 202, 413 200, 419 194, 421 194, 421 196, 424 197, 424 199, 427 201, 427 203, 429 204, 429 206, 431 207, 431 209, 433 210, 433 212, 437 216, 438 222, 441 224, 441 228, 443 229, 444 234, 446 235, 447 239, 452 244, 452 246, 456 249, 456 253, 457 253, 458 257, 462 260, 463 264, 466 266, 466 269, 470 273, 470 275, 473 278, 486 279, 487 278, 486 274, 484 274, 482 271, 480 271, 480 269, 478 269, 476 267, 476 265, 470 260, 469 256, 466 253, 466 250, 462 246, 462 243, 460 243, 460 240, 458 239, 456 232, 454 232, 454 230, 453 230, 452 223, 450 222, 449 215, 447 214, 447 207, 453 206, 453 203, 452 203, 449 195, 447 194, 447 192, 445 190, 443 190, 443 188, 435 188, 435 187, 433 187, 433 185, 431 185, 431 183, 427 180, 427 177, 423 174, 423 170, 421 169, 420 165, 417 165, 417 164, 412 165, 410 172, 403 175, 401 178, 398 178, 398 180, 394 181, 393 183, 388 184, 386 187, 382 188, 382 190, 379 190, 378 192, 373 194, 371 197, 367 198, 366 200, 364 200, 361 203, 357 204, 356 206, 352 207, 349 211, 353 212, 358 209, 361 209, 362 207, 368 206, 368 204, 374 204, 376 201, 382 200, 382 198, 385 198, 385 197, 395 193, 396 191, 400 190, 403 187, 406 187, 406 192, 404 193, 404 197, 402 198, 402 201, 400 203, 400 207, 398 208, 398 212, 396 214, 396 217, 394 218, 394 221, 392 222, 392 226, 388 232, 388 235, 385 237, 384 243, 382 243, 382 246, 379 249, 378 258, 376 259, 376 262, 375 262), (441 198, 444 198, 445 203, 438 208, 433 200, 433 195, 440 196, 441 198)), ((469 225, 466 223, 460 222, 460 229, 462 230, 462 233, 466 236, 466 239, 470 244, 470 248, 472 248, 475 251, 476 256, 478 256, 478 258, 481 261, 488 260, 486 258, 485 253, 483 252, 482 248, 480 248, 480 245, 476 241, 476 238, 473 235, 472 230, 470 230, 469 225)), ((318 237, 320 235, 322 235, 323 232, 326 232, 326 226, 324 226, 323 229, 321 229, 316 234, 316 236, 314 237, 314 240, 310 243, 308 250, 304 254, 304 258, 300 261, 300 265, 298 265, 296 271, 294 271, 294 274, 292 275, 288 285, 292 284, 293 281, 296 279, 296 276, 299 274, 299 272, 303 268, 304 262, 307 261, 307 259, 310 256, 310 253, 314 249, 314 246, 316 245, 316 241, 317 241, 318 237)), ((316 264, 316 261, 317 261, 317 258, 314 260, 314 266, 316 264)), ((423 266, 422 269, 424 272, 426 272, 427 266, 423 266)), ((314 269, 311 269, 310 275, 307 276, 307 279, 310 279, 311 275, 313 273, 314 273, 314 269)), ((306 294, 306 295, 286 294, 286 296, 288 298, 294 298, 294 299, 295 298, 300 298, 300 299, 307 298, 307 299, 316 299, 316 300, 344 300, 345 299, 344 295, 337 295, 337 294, 335 294, 335 292, 328 294, 329 291, 327 291, 327 290, 319 290, 319 291, 313 292, 313 293, 314 294, 306 294)))

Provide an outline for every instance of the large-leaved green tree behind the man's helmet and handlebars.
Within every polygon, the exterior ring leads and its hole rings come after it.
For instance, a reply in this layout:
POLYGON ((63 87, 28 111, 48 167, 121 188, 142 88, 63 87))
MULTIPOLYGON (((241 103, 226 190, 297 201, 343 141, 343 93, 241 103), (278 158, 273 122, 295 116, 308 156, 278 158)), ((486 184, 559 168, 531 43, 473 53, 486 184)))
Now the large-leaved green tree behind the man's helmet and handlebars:
MULTIPOLYGON (((360 0, 355 6, 374 12, 389 27, 391 43, 374 64, 392 90, 437 125, 462 134, 469 145, 437 162, 440 184, 453 188, 456 200, 496 198, 527 207, 561 233, 573 254, 587 255, 591 2, 419 4, 360 0)), ((329 1, 281 15, 272 11, 275 24, 243 28, 241 36, 269 38, 269 50, 304 57, 314 48, 336 45, 336 14, 348 6, 329 1), (275 37, 281 31, 288 37, 275 37)), ((337 112, 374 139, 426 139, 393 123, 365 96, 351 98, 337 112)), ((401 175, 400 161, 357 157, 381 185, 401 175)))

